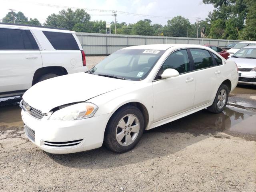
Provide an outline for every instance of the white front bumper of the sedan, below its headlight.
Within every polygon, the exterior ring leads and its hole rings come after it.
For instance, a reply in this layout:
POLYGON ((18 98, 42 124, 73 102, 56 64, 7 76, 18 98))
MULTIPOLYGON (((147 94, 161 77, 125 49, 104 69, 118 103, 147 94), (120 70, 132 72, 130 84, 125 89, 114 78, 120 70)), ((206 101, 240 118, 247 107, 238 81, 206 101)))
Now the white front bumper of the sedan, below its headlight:
POLYGON ((49 153, 75 153, 102 146, 104 131, 111 114, 82 120, 41 120, 22 110, 26 136, 36 146, 49 153))

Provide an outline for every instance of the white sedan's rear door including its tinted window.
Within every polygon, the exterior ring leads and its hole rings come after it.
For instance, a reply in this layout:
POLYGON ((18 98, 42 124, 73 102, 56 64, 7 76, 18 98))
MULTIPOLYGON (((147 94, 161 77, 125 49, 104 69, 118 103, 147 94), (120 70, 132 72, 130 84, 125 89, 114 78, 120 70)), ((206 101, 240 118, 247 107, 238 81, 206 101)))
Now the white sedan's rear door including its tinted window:
POLYGON ((205 49, 193 48, 190 52, 194 61, 196 92, 193 108, 196 108, 209 103, 215 97, 222 80, 222 61, 217 64, 212 53, 205 49))

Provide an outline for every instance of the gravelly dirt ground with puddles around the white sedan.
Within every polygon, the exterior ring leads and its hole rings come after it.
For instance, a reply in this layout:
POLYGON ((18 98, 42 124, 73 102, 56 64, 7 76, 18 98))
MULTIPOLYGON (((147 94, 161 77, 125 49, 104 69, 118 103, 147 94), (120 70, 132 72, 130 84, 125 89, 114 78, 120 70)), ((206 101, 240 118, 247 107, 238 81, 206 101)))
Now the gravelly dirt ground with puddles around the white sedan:
MULTIPOLYGON (((100 57, 86 57, 88 66, 100 57)), ((20 108, 0 107, 0 192, 256 191, 256 87, 220 114, 202 110, 145 131, 131 151, 49 154, 30 142, 20 108)))

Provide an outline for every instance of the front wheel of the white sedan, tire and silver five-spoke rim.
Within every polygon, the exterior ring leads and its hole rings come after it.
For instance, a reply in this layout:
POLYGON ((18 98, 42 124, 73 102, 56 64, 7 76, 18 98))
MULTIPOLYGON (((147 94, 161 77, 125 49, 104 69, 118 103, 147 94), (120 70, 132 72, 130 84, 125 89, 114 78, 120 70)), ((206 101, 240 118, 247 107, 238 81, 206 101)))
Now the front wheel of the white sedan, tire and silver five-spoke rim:
POLYGON ((143 131, 142 112, 134 106, 124 106, 110 118, 105 130, 104 145, 117 153, 127 152, 138 144, 143 131))

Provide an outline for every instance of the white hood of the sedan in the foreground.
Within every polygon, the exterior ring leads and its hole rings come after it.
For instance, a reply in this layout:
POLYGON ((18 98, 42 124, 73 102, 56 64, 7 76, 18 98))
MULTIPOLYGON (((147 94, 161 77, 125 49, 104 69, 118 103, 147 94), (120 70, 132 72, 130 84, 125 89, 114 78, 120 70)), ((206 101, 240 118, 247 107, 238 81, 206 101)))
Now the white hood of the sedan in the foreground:
POLYGON ((134 81, 82 72, 39 82, 27 90, 22 98, 33 108, 48 113, 55 107, 86 101, 132 83, 134 81))

